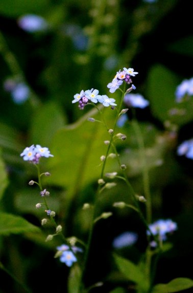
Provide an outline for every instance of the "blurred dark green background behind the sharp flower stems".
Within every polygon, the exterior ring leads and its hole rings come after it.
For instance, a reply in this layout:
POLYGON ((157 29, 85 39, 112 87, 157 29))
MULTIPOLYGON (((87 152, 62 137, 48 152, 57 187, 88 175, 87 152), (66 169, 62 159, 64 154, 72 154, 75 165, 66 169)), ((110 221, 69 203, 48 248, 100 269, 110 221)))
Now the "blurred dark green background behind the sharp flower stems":
MULTIPOLYGON (((36 179, 36 170, 20 153, 32 144, 49 147, 54 157, 41 166, 42 172, 52 174, 44 179, 51 193, 49 204, 66 237, 87 241, 91 218, 82 206, 93 202, 108 137, 84 118, 90 106, 80 111, 71 101, 91 88, 117 100, 120 93, 110 94, 107 84, 119 69, 134 68, 139 72, 133 78, 135 91, 150 102, 135 113, 146 146, 153 220, 170 218, 178 224, 171 235, 172 250, 159 259, 155 283, 193 278, 193 161, 177 154, 178 146, 193 137, 193 99, 177 103, 175 96, 177 86, 193 76, 191 17, 191 2, 182 0, 1 0, 1 211, 41 227, 44 212, 35 208, 39 191, 28 185, 36 179)), ((128 113, 128 122, 119 129, 127 140, 117 148, 135 192, 143 195, 142 164, 128 113)), ((116 163, 108 168, 116 171, 116 163)), ((99 215, 112 211, 113 216, 94 229, 85 283, 103 281, 104 286, 93 289, 96 292, 116 286, 134 292, 117 273, 111 256, 114 237, 124 231, 136 232, 138 241, 120 254, 138 261, 147 246, 137 215, 112 206, 124 200, 125 187, 119 182, 98 203, 99 215)), ((45 230, 1 236, 1 261, 32 292, 66 292, 69 269, 54 259, 61 239, 45 243, 45 230)), ((25 292, 4 271, 0 276, 1 293, 25 292)))

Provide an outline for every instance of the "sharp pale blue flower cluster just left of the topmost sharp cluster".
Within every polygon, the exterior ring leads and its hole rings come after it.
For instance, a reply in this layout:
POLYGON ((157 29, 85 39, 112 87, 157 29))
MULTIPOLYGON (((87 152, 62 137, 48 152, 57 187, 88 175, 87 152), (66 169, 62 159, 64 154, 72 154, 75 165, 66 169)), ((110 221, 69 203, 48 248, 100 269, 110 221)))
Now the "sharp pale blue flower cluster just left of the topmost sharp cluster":
POLYGON ((79 103, 79 108, 81 110, 84 109, 84 106, 88 103, 88 102, 92 102, 92 103, 97 103, 100 102, 102 103, 105 107, 108 106, 116 106, 115 99, 113 98, 109 98, 107 95, 99 95, 99 91, 96 89, 91 89, 91 90, 86 90, 86 91, 81 91, 80 94, 76 94, 74 95, 74 100, 72 101, 72 103, 79 103))

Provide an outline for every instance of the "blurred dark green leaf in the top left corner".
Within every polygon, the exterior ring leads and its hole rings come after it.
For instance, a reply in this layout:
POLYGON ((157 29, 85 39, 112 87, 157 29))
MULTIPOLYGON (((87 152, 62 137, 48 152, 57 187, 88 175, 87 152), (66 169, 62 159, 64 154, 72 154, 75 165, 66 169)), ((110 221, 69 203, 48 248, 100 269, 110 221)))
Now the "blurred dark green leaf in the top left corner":
POLYGON ((27 13, 39 13, 43 11, 49 3, 49 0, 1 0, 0 13, 12 17, 27 13))

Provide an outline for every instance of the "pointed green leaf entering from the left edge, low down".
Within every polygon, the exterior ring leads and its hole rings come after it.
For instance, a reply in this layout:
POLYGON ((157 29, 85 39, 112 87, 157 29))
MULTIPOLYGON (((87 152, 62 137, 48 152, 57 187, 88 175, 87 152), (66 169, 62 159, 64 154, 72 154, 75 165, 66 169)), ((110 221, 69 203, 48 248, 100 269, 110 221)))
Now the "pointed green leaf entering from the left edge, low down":
POLYGON ((0 235, 20 234, 33 231, 37 232, 39 228, 19 216, 0 212, 0 235))

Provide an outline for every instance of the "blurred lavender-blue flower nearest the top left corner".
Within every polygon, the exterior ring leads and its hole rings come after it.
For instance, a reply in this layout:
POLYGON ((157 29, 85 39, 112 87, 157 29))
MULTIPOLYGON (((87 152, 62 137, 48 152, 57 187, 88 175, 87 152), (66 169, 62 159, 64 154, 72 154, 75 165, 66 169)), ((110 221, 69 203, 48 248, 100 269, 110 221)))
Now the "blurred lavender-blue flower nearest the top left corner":
POLYGON ((17 20, 17 23, 23 31, 29 33, 43 32, 49 27, 47 21, 43 17, 35 14, 23 15, 17 20))

